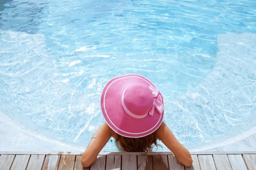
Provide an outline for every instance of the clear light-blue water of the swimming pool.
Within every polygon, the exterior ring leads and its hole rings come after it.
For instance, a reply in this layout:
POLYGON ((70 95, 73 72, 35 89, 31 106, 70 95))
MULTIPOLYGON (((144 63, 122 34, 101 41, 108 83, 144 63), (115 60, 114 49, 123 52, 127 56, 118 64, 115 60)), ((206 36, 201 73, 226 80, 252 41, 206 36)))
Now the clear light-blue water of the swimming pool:
POLYGON ((212 145, 256 127, 255 33, 255 0, 3 0, 0 112, 86 146, 103 86, 137 73, 182 144, 212 145))

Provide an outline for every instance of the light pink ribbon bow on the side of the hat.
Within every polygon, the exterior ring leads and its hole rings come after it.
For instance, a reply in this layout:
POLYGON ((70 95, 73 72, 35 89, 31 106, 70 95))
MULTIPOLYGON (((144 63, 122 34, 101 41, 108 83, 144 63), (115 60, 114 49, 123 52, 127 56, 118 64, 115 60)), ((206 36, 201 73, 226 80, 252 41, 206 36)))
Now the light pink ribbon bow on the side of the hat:
POLYGON ((155 87, 153 85, 150 85, 149 88, 153 93, 154 102, 153 102, 153 106, 151 107, 151 109, 149 110, 148 113, 149 113, 149 115, 153 116, 154 115, 154 109, 156 109, 159 114, 162 114, 164 105, 160 101, 158 101, 158 99, 157 99, 158 94, 159 94, 159 90, 158 90, 157 87, 155 87))

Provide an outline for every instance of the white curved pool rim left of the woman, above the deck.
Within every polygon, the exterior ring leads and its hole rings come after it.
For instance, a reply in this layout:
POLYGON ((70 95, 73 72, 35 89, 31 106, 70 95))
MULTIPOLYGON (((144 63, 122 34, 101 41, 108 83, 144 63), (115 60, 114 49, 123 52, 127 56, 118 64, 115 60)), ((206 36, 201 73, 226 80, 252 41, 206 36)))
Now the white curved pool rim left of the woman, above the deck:
POLYGON ((31 132, 2 113, 0 118, 0 152, 83 152, 86 148, 31 132))

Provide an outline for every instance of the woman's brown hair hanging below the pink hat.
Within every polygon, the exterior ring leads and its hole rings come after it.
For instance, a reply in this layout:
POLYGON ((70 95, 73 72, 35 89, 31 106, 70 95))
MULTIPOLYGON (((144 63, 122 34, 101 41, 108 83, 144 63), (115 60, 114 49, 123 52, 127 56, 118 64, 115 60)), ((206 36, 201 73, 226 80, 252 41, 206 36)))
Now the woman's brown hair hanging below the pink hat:
POLYGON ((157 131, 143 137, 125 137, 118 135, 116 142, 123 151, 127 152, 152 152, 154 146, 161 146, 157 143, 157 131))

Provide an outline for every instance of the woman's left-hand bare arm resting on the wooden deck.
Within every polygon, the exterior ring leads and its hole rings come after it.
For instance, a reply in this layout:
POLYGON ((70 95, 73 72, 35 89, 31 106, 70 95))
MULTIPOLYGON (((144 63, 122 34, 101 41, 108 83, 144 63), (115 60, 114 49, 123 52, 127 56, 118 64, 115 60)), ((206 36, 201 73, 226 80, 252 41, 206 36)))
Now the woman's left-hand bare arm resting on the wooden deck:
POLYGON ((84 168, 89 167, 92 163, 95 162, 98 153, 105 146, 111 136, 112 129, 110 129, 106 122, 96 130, 94 136, 92 137, 90 143, 82 155, 81 163, 84 168))

